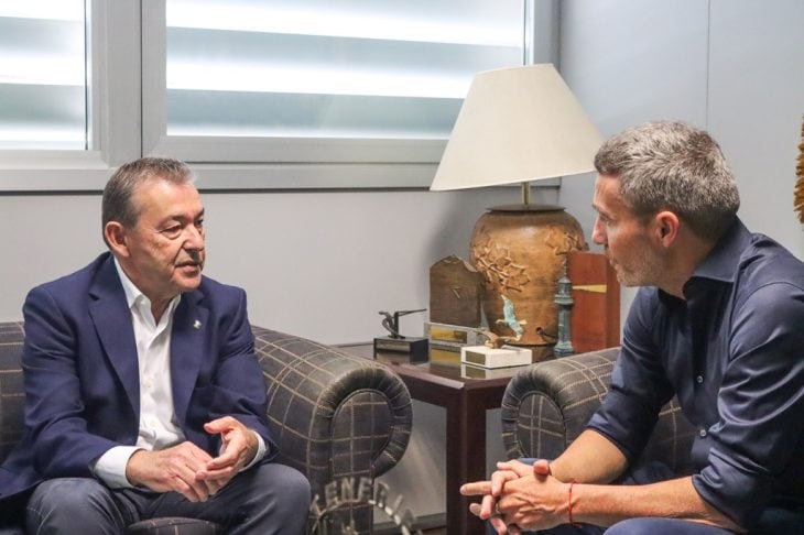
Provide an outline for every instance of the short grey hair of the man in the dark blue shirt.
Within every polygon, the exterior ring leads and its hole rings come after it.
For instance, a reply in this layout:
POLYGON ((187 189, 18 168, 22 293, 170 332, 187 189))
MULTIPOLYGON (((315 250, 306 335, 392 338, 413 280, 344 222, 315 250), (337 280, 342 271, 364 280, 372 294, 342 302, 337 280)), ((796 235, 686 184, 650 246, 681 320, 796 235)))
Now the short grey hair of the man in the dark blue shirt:
POLYGON ((670 210, 707 241, 722 236, 740 207, 720 146, 683 122, 650 122, 610 138, 597 152, 595 167, 619 177, 622 199, 637 216, 670 210))

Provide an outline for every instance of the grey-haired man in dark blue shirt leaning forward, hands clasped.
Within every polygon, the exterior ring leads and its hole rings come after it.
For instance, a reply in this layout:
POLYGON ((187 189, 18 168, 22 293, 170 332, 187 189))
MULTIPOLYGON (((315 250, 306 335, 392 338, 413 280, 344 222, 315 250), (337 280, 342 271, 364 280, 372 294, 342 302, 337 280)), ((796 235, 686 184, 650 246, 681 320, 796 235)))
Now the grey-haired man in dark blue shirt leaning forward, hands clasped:
POLYGON ((804 533, 804 264, 737 218, 702 130, 627 130, 595 166, 593 239, 643 286, 610 393, 557 459, 464 485, 484 495, 472 512, 498 533, 804 533), (673 395, 698 430, 692 476, 632 466, 673 395), (611 484, 623 474, 641 484, 611 484))

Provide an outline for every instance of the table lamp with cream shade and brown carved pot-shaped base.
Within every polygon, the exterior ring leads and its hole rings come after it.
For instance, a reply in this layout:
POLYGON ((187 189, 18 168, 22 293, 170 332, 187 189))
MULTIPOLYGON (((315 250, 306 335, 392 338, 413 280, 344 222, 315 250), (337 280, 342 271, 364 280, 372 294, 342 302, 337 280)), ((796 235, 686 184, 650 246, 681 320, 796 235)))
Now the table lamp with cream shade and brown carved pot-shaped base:
MULTIPOLYGON (((480 73, 469 88, 432 190, 522 184, 522 204, 491 208, 471 237, 470 260, 484 277, 482 309, 491 330, 512 332, 502 295, 526 321, 522 346, 550 345, 553 303, 568 252, 587 249, 580 225, 558 206, 530 203, 530 182, 594 170, 602 135, 552 65, 480 73)), ((521 321, 520 321, 521 323, 521 321)))

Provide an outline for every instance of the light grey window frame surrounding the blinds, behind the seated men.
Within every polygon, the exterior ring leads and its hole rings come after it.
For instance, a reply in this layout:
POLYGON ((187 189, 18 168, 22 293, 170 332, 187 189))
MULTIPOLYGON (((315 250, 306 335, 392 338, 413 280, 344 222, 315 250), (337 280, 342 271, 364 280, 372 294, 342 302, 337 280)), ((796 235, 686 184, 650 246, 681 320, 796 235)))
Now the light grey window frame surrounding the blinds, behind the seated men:
MULTIPOLYGON (((207 190, 430 187, 445 140, 167 137, 165 1, 90 2, 91 150, 0 150, 0 194, 99 192, 143 155, 187 161, 207 190)), ((526 6, 529 63, 556 63, 558 0, 526 6)))

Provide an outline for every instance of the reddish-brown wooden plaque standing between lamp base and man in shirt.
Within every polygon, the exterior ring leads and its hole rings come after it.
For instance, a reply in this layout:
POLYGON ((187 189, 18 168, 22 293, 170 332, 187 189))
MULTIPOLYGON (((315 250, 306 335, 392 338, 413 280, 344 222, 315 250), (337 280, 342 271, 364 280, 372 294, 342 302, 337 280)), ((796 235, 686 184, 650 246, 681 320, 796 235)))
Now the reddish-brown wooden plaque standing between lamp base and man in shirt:
POLYGON ((572 341, 584 353, 620 343, 620 283, 605 254, 574 251, 567 258, 573 284, 572 341))

